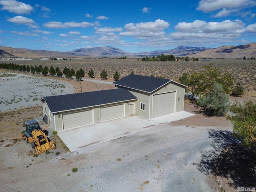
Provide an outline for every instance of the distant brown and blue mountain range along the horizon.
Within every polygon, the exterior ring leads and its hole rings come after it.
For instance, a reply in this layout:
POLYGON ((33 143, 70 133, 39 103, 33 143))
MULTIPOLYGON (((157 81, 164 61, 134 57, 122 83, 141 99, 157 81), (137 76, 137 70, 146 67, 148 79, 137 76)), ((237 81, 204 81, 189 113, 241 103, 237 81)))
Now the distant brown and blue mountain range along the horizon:
POLYGON ((151 52, 129 53, 116 47, 94 47, 81 48, 69 52, 46 51, 46 50, 30 50, 26 48, 11 48, 0 46, 0 57, 56 57, 56 58, 70 58, 70 57, 88 57, 88 56, 104 56, 104 57, 142 57, 142 56, 158 56, 158 55, 174 56, 188 56, 196 58, 238 58, 238 57, 256 57, 256 42, 239 45, 239 46, 221 46, 218 48, 205 47, 188 47, 178 46, 169 50, 155 50, 151 52))

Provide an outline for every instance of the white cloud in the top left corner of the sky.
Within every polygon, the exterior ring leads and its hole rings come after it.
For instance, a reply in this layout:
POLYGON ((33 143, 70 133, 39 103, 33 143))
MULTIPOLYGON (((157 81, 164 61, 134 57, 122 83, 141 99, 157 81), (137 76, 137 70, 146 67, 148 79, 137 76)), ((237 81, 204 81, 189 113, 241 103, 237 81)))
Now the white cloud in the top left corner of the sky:
POLYGON ((1 10, 7 10, 16 14, 30 14, 33 10, 31 5, 16 0, 0 0, 0 5, 2 5, 1 10))

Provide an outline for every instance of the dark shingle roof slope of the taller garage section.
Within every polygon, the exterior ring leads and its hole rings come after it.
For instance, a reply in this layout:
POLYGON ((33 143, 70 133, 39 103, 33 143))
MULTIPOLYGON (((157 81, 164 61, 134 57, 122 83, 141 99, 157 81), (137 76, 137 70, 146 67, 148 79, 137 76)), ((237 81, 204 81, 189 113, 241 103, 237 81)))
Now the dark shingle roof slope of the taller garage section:
POLYGON ((113 84, 151 93, 154 90, 160 88, 161 86, 164 86, 170 81, 171 80, 169 79, 160 79, 160 78, 130 74, 114 82, 113 84))

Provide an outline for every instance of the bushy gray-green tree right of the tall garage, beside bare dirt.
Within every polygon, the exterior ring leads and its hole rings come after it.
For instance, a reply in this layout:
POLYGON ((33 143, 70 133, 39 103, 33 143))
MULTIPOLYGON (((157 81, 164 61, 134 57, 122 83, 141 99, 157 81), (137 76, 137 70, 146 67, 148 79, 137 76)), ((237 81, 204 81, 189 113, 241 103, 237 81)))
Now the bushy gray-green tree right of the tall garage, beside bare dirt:
POLYGON ((205 108, 209 116, 224 116, 229 108, 228 94, 217 82, 213 83, 207 96, 200 96, 197 103, 205 108))

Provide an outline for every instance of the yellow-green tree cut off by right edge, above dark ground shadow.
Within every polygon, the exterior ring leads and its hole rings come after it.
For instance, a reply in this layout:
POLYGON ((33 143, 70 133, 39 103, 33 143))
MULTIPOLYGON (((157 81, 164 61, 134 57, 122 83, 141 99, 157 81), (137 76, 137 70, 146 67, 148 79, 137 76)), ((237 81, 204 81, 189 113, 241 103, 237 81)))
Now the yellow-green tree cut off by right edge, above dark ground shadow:
POLYGON ((235 102, 230 106, 234 114, 227 119, 232 122, 233 134, 242 140, 243 146, 252 147, 256 150, 256 104, 252 101, 240 104, 235 102))

